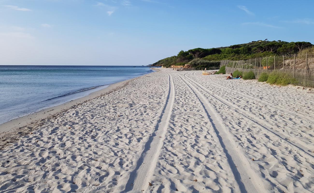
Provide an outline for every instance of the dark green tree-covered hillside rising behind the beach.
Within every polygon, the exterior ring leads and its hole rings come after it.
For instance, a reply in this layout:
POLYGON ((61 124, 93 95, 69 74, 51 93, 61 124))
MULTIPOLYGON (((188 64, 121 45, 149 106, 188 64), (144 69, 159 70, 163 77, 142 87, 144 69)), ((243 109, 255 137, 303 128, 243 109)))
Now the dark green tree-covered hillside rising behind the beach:
POLYGON ((150 66, 172 65, 189 67, 219 66, 220 60, 246 60, 265 56, 297 54, 303 49, 313 47, 310 42, 286 42, 257 40, 245 44, 236 44, 219 48, 194 48, 188 51, 181 50, 176 56, 167 57, 150 66))

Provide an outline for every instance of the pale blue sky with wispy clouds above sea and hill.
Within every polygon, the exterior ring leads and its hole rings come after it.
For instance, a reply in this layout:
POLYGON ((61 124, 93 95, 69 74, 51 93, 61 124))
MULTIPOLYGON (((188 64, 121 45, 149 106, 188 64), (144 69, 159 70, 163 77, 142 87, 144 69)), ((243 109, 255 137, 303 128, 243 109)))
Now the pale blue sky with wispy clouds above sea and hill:
POLYGON ((147 65, 252 40, 314 44, 314 1, 0 0, 0 65, 147 65))

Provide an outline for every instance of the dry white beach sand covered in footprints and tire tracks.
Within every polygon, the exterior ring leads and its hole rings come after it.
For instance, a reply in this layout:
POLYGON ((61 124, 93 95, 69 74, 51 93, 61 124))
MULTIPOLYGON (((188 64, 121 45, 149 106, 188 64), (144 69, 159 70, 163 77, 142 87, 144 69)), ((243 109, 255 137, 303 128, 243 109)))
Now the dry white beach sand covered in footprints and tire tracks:
POLYGON ((0 192, 314 192, 313 96, 161 69, 3 134, 0 192))

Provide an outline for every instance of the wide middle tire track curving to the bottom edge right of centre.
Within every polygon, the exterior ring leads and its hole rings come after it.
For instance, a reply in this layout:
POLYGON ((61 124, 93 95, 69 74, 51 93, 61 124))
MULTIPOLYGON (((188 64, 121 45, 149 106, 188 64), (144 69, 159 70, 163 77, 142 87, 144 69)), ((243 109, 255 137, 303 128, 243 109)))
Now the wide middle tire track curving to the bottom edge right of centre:
POLYGON ((240 149, 236 149, 236 143, 233 140, 229 140, 232 139, 232 135, 225 132, 225 128, 222 128, 223 126, 220 124, 222 120, 219 119, 219 115, 217 115, 217 113, 214 111, 214 107, 207 101, 205 96, 197 88, 195 88, 191 83, 187 83, 187 81, 185 81, 179 74, 176 75, 178 75, 182 81, 187 84, 187 86, 199 99, 210 123, 216 132, 217 137, 219 138, 219 142, 227 156, 232 173, 237 179, 240 191, 242 193, 265 192, 267 189, 264 187, 263 181, 256 174, 256 172, 251 169, 250 163, 245 157, 244 152, 242 152, 240 149), (244 177, 246 178, 244 179, 244 177))

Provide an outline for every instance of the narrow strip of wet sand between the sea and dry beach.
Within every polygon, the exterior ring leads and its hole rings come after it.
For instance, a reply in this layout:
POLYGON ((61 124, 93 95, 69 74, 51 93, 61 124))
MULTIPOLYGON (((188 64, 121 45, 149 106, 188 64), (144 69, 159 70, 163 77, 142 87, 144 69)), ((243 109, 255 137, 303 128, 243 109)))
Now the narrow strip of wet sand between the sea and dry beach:
MULTIPOLYGON (((154 71, 147 73, 147 74, 151 74, 151 73, 159 71, 155 68, 152 68, 152 69, 154 71)), ((17 118, 14 118, 12 120, 9 120, 7 122, 4 122, 4 123, 0 124, 0 137, 2 137, 3 134, 11 133, 14 130, 17 130, 17 129, 23 128, 23 127, 27 127, 28 125, 35 124, 39 120, 46 119, 46 118, 53 116, 57 113, 66 111, 66 110, 70 109, 71 107, 73 107, 74 105, 80 105, 81 103, 84 103, 90 99, 94 99, 94 98, 100 97, 103 94, 107 94, 107 93, 111 92, 112 90, 116 89, 117 87, 120 87, 121 85, 123 87, 124 86, 123 84, 126 84, 129 81, 136 79, 136 78, 139 78, 139 77, 142 77, 142 76, 145 76, 147 74, 143 74, 141 76, 131 78, 128 80, 124 80, 121 82, 109 84, 106 88, 92 92, 92 93, 90 93, 84 97, 74 99, 74 100, 62 103, 60 105, 48 107, 48 108, 45 108, 45 109, 42 109, 42 110, 39 110, 36 112, 32 112, 32 113, 29 113, 27 115, 22 115, 20 117, 17 117, 17 118)))

